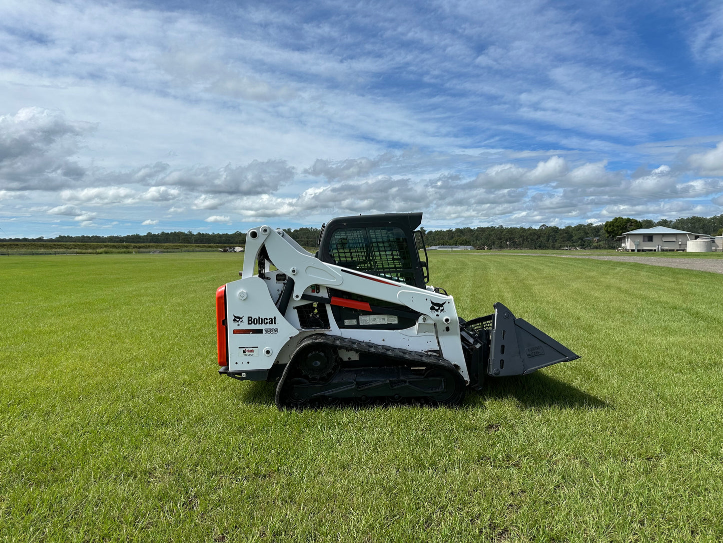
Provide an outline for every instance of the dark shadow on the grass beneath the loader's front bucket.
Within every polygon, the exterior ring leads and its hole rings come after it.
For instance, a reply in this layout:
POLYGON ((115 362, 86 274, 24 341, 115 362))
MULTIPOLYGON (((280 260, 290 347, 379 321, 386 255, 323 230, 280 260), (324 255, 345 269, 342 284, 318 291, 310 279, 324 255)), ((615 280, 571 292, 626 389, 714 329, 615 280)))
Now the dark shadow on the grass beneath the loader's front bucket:
POLYGON ((531 375, 488 378, 479 392, 482 400, 514 398, 524 409, 608 409, 606 401, 554 377, 536 371, 531 375))

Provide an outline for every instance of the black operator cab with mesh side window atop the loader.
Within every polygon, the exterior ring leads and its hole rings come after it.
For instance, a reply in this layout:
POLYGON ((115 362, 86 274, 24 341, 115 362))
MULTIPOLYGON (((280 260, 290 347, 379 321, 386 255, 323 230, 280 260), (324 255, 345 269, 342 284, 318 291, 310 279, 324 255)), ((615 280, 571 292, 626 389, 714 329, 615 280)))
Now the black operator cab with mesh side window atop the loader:
POLYGON ((318 258, 328 264, 424 288, 429 281, 429 262, 422 230, 415 232, 419 224, 421 213, 331 219, 322 228, 318 258), (424 249, 424 260, 419 258, 420 249, 424 249))

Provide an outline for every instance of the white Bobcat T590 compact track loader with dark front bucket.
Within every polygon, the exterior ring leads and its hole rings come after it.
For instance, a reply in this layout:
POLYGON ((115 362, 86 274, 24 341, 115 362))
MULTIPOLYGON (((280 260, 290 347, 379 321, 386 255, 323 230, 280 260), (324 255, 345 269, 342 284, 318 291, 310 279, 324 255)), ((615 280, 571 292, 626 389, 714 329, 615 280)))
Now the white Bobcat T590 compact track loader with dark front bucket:
POLYGON ((316 254, 282 230, 249 230, 242 278, 216 291, 219 373, 277 382, 279 409, 456 405, 489 377, 579 358, 501 303, 458 317, 454 299, 426 285, 421 222, 421 213, 333 219, 316 254))

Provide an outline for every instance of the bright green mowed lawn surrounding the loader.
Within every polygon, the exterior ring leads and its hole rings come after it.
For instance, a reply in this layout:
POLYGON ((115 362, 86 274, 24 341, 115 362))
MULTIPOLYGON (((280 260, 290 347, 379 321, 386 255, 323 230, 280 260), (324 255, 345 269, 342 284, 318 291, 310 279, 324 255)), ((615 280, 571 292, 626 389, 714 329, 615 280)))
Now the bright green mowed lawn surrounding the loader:
POLYGON ((0 541, 723 539, 723 277, 433 254, 583 356, 461 408, 278 412, 217 374, 227 254, 0 257, 0 541))

